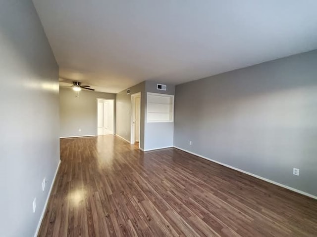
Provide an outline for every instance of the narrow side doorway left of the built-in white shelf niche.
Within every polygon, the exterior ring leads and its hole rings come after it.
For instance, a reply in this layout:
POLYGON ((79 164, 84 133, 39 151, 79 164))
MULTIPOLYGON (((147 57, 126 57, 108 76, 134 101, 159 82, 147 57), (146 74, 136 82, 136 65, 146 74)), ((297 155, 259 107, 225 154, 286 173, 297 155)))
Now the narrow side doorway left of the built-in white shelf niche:
POLYGON ((131 95, 131 105, 131 144, 139 143, 140 148, 141 92, 131 95))

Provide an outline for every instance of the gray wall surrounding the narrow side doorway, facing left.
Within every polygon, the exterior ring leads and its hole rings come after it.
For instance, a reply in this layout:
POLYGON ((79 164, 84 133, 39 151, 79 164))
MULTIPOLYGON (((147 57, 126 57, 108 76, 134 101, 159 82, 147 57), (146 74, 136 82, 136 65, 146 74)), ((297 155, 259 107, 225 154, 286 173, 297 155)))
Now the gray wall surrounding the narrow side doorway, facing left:
POLYGON ((116 134, 131 140, 131 95, 138 92, 141 92, 140 147, 144 149, 145 81, 130 87, 130 94, 126 89, 116 94, 116 134))

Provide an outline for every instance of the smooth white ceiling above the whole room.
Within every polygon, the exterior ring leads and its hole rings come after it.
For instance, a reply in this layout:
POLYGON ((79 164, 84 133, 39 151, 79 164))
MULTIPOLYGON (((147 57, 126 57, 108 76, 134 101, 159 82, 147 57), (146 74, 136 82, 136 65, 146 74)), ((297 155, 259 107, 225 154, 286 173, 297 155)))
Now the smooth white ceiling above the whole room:
POLYGON ((317 49, 317 0, 33 0, 61 78, 117 93, 317 49))

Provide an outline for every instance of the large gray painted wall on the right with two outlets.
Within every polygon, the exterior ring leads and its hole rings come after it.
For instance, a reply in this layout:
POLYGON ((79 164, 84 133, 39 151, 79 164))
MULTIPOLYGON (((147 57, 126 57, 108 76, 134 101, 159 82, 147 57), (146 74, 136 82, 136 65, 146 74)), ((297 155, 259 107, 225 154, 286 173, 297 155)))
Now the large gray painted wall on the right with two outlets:
POLYGON ((174 146, 316 196, 317 50, 177 85, 174 146))

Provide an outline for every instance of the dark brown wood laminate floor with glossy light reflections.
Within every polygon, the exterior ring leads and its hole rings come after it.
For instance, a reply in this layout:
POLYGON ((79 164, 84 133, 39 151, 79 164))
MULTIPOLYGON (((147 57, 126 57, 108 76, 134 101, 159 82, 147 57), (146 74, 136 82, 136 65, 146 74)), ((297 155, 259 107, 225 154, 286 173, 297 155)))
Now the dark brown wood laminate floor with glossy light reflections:
POLYGON ((177 149, 61 139, 39 236, 317 236, 317 201, 177 149))

